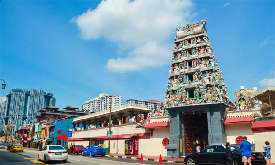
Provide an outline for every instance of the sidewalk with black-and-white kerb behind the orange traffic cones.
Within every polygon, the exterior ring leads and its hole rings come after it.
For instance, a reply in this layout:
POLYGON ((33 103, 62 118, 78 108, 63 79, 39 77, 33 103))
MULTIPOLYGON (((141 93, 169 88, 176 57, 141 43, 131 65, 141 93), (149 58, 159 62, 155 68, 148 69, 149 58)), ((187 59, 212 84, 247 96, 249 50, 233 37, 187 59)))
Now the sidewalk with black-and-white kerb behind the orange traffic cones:
MULTIPOLYGON (((128 159, 140 159, 141 155, 125 155, 125 154, 115 154, 111 153, 110 156, 112 157, 119 157, 119 158, 128 158, 128 159)), ((171 162, 171 163, 184 163, 184 158, 167 158, 166 156, 161 156, 163 162, 171 162)), ((144 160, 151 160, 151 161, 159 161, 160 156, 151 156, 151 155, 143 155, 144 160)))

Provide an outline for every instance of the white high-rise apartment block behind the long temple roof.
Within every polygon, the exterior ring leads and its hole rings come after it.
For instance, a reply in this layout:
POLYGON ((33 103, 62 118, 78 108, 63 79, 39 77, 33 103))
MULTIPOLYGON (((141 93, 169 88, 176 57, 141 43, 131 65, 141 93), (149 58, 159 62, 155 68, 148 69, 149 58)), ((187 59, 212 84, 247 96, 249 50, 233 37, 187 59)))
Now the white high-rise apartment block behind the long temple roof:
POLYGON ((102 93, 99 94, 99 97, 85 101, 82 104, 82 109, 88 112, 104 111, 120 105, 122 105, 122 96, 102 93))

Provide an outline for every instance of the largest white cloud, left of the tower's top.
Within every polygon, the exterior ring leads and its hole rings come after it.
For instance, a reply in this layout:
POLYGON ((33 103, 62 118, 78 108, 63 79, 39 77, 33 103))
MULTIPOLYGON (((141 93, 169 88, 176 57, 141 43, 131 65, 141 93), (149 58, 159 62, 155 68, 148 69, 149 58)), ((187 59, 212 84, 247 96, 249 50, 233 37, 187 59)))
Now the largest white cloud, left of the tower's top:
POLYGON ((192 16, 191 1, 102 1, 96 9, 71 19, 83 39, 115 42, 126 50, 109 59, 105 68, 114 72, 137 71, 169 63, 175 27, 192 16))

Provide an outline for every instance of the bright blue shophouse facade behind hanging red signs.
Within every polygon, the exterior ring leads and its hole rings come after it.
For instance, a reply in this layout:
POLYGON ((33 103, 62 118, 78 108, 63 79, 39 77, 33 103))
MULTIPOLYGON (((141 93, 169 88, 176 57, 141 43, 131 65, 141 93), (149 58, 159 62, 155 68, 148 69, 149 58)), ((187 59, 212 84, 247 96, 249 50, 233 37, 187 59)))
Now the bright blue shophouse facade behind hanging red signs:
MULTIPOLYGON (((67 135, 66 132, 66 124, 67 124, 67 131, 69 129, 73 129, 73 124, 70 123, 74 120, 75 116, 68 116, 62 119, 55 120, 54 122, 50 123, 50 129, 49 129, 49 139, 53 139, 54 145, 62 145, 62 146, 68 146, 68 141, 66 140, 57 140, 57 136, 60 135, 62 138, 62 135, 67 135), (61 130, 61 134, 58 134, 57 131, 61 130)), ((79 127, 82 128, 82 124, 79 124, 79 127)), ((68 137, 70 138, 70 137, 68 137)))

